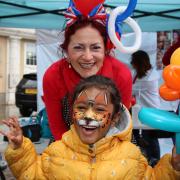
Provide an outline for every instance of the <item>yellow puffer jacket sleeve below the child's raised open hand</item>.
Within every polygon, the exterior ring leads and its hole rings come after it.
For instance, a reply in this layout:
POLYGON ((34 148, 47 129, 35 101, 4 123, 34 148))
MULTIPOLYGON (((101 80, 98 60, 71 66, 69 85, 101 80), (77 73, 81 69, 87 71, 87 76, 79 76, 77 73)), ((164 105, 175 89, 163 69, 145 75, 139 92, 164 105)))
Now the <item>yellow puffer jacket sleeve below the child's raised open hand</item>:
POLYGON ((44 157, 36 153, 33 143, 23 137, 23 143, 20 148, 13 150, 10 146, 5 151, 5 158, 8 162, 9 168, 13 175, 21 179, 47 179, 42 170, 42 159, 48 156, 46 153, 44 157))

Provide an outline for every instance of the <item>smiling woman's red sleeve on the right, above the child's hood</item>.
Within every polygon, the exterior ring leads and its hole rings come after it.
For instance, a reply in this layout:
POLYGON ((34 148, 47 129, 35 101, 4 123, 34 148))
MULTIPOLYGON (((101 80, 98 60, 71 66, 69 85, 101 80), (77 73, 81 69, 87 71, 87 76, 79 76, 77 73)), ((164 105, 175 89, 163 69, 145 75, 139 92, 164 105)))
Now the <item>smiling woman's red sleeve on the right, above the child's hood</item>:
POLYGON ((114 63, 114 78, 118 86, 121 101, 129 109, 132 99, 132 74, 130 69, 122 62, 114 63))

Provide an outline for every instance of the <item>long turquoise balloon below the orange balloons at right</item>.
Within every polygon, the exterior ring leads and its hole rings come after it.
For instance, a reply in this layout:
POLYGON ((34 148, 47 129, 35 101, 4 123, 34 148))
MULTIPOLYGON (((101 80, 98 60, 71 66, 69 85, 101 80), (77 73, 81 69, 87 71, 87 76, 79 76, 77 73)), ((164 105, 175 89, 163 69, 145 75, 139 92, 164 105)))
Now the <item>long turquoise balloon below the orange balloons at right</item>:
POLYGON ((180 116, 155 108, 142 108, 139 120, 148 126, 176 133, 176 152, 180 154, 180 116))

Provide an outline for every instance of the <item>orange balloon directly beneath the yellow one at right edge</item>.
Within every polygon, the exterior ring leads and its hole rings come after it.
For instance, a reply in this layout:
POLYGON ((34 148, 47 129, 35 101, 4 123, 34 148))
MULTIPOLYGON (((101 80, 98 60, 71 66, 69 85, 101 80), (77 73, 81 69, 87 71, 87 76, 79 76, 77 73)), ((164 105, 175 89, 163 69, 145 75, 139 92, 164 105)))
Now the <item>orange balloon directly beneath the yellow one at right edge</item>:
POLYGON ((163 78, 166 85, 174 90, 180 91, 180 66, 168 65, 164 68, 163 78))

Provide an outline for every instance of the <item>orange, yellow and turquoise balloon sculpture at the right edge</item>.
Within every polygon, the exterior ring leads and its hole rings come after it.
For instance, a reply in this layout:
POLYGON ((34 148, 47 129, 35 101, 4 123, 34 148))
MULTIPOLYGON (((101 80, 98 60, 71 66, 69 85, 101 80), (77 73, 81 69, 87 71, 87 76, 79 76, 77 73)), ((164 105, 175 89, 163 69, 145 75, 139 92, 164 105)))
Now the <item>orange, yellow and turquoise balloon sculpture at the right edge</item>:
MULTIPOLYGON (((161 97, 167 101, 180 99, 180 48, 174 51, 170 65, 164 68, 163 78, 165 84, 159 90, 161 97)), ((180 116, 154 108, 142 108, 138 116, 142 123, 153 128, 175 132, 176 151, 180 154, 180 116)))

